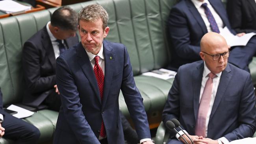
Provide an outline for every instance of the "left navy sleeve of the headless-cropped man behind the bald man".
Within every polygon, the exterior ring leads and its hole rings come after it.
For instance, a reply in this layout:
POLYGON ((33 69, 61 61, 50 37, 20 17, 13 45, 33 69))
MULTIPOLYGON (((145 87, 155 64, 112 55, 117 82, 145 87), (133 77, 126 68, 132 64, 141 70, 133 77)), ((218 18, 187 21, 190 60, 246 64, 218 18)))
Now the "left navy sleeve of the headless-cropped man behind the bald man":
POLYGON ((191 45, 190 32, 185 14, 174 7, 171 9, 168 24, 173 48, 176 50, 177 55, 184 59, 200 58, 200 46, 191 45))

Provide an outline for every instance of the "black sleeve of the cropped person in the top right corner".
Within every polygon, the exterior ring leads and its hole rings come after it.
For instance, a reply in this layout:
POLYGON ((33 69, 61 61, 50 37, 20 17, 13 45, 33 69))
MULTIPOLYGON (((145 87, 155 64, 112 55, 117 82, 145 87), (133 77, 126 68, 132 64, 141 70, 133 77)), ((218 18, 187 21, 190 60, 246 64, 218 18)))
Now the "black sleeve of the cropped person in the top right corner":
MULTIPOLYGON (((231 24, 232 29, 234 29, 237 33, 250 33, 256 32, 256 30, 252 29, 243 29, 243 5, 241 4, 241 0, 228 0, 226 4, 226 10, 228 13, 228 19, 231 24)), ((244 7, 246 8, 246 7, 244 7)))

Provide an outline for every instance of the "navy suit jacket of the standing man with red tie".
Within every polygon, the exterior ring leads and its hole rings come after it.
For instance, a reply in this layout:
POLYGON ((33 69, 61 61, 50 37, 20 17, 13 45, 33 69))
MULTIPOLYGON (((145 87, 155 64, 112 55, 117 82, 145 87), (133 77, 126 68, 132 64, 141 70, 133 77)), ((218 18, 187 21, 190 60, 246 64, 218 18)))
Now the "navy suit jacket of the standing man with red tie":
POLYGON ((143 98, 135 86, 126 47, 103 41, 103 48, 105 76, 102 102, 91 62, 81 42, 58 57, 56 76, 62 106, 54 144, 100 144, 98 137, 102 119, 108 143, 124 144, 119 112, 120 89, 139 139, 151 138, 143 98))

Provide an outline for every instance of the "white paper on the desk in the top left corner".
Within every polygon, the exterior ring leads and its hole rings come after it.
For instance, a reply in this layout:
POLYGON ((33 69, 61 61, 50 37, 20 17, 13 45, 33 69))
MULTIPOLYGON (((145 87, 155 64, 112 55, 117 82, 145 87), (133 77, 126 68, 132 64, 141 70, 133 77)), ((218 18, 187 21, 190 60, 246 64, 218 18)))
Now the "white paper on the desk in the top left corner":
POLYGON ((19 4, 18 2, 12 1, 12 0, 1 0, 0 1, 0 11, 3 11, 5 13, 14 13, 18 11, 26 11, 30 10, 30 6, 24 6, 22 4, 19 4))

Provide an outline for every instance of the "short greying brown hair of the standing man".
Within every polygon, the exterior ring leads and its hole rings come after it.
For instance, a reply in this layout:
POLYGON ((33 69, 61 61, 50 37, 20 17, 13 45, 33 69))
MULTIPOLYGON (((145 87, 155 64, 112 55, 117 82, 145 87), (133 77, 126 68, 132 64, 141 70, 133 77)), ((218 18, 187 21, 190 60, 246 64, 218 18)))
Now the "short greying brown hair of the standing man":
POLYGON ((83 7, 78 13, 78 23, 80 20, 95 22, 98 18, 101 18, 103 22, 103 30, 108 26, 108 13, 107 11, 98 4, 92 4, 83 7))

